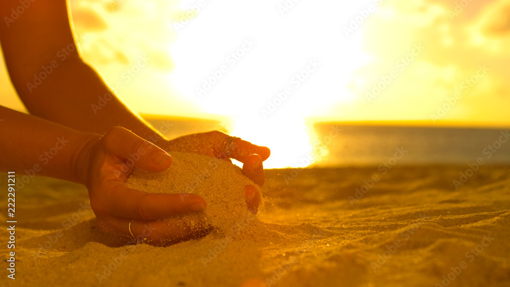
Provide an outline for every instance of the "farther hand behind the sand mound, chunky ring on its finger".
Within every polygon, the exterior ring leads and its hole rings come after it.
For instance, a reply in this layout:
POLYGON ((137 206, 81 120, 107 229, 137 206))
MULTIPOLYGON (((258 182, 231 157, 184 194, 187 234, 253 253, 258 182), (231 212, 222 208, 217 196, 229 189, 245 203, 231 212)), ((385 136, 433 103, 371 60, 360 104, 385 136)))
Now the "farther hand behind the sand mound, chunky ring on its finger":
MULTIPOLYGON (((231 137, 220 131, 186 135, 162 144, 163 149, 171 151, 193 152, 232 162, 235 159, 243 163, 243 173, 257 185, 264 185, 264 167, 262 162, 269 158, 271 151, 265 146, 254 145, 240 138, 231 137)), ((248 209, 257 214, 261 196, 254 186, 246 186, 248 209)))

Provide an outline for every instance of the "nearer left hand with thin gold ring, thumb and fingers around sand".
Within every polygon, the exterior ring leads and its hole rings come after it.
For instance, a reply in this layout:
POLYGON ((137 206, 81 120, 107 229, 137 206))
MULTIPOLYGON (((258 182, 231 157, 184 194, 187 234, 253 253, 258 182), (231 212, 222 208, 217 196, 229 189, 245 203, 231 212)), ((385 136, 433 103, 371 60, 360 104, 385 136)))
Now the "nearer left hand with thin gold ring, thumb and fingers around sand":
POLYGON ((77 154, 74 169, 89 190, 90 204, 102 230, 152 245, 170 245, 209 232, 205 224, 191 229, 184 223, 168 225, 157 220, 203 211, 207 203, 202 197, 147 193, 123 184, 135 166, 150 172, 170 166, 170 155, 159 147, 127 129, 114 127, 103 137, 91 136, 77 154))

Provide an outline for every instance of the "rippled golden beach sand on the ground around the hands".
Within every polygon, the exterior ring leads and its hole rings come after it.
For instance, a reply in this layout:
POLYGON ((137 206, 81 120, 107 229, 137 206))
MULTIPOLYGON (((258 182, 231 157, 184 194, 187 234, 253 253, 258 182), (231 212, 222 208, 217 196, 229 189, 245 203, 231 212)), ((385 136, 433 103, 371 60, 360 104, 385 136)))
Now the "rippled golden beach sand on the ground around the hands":
POLYGON ((455 190, 452 180, 465 169, 267 170, 265 208, 238 226, 257 224, 258 236, 229 241, 213 231, 169 247, 129 245, 100 231, 83 186, 35 177, 16 193, 16 280, 6 277, 12 250, 2 174, 0 283, 509 286, 510 169, 483 166, 455 190), (380 180, 372 185, 374 174, 380 180))

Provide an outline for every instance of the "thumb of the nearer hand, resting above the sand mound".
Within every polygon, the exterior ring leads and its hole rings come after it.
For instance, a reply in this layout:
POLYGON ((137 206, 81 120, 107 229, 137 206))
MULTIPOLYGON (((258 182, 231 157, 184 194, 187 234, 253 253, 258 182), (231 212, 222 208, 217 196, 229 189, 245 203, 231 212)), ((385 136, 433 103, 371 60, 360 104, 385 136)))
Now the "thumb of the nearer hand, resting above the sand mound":
POLYGON ((130 160, 146 171, 162 171, 172 163, 166 151, 120 126, 112 128, 101 140, 107 153, 130 160))

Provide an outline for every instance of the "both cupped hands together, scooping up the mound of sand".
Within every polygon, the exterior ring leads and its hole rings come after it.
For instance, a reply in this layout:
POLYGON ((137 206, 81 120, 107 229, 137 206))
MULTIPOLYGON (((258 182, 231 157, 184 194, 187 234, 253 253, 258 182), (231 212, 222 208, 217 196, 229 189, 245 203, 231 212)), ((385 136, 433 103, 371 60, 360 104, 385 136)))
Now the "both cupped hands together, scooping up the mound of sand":
MULTIPOLYGON (((244 163, 244 174, 257 185, 263 185, 262 161, 269 157, 269 149, 236 138, 226 152, 224 143, 229 137, 221 132, 194 134, 168 142, 165 149, 224 160, 232 157, 244 163)), ((102 230, 159 246, 199 238, 210 231, 205 223, 191 228, 184 222, 169 225, 160 220, 203 211, 207 203, 202 197, 187 193, 147 193, 124 185, 135 166, 150 172, 170 166, 171 156, 156 145, 127 129, 114 127, 103 137, 91 137, 78 158, 77 173, 89 190, 90 204, 102 230)), ((246 196, 248 207, 256 213, 260 194, 253 186, 246 186, 246 196)))

